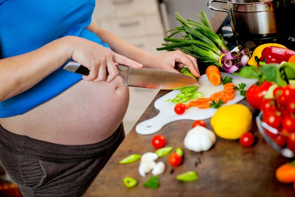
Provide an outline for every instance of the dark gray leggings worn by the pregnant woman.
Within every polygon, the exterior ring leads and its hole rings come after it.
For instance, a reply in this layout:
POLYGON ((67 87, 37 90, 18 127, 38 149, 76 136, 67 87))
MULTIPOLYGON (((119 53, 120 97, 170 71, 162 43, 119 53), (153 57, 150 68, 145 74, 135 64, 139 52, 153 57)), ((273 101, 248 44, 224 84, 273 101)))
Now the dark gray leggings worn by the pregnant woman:
POLYGON ((68 146, 6 131, 0 164, 24 197, 82 197, 125 137, 123 126, 97 144, 68 146))

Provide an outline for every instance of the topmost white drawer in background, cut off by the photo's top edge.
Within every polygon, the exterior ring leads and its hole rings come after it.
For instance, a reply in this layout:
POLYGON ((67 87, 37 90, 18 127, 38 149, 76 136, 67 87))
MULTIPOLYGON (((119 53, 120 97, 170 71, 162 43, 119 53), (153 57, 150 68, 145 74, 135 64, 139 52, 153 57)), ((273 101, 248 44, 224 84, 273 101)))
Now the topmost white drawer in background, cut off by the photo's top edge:
POLYGON ((157 0, 96 0, 97 19, 138 16, 158 12, 157 0))

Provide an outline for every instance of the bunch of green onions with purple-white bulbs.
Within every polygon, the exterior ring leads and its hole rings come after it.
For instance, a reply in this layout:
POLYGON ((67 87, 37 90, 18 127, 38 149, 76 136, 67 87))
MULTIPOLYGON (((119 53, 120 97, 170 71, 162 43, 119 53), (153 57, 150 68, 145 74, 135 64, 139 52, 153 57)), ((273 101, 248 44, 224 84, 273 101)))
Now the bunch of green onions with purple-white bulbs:
POLYGON ((171 34, 165 37, 164 41, 170 43, 163 43, 163 47, 157 48, 158 51, 180 50, 195 57, 202 65, 218 66, 228 73, 239 71, 247 65, 252 51, 248 48, 242 49, 240 45, 230 51, 225 45, 224 37, 212 30, 205 12, 201 12, 202 16, 196 14, 202 23, 191 19, 184 20, 177 12, 176 15, 176 20, 181 26, 167 31, 171 34), (179 34, 182 39, 175 38, 176 34, 179 34))

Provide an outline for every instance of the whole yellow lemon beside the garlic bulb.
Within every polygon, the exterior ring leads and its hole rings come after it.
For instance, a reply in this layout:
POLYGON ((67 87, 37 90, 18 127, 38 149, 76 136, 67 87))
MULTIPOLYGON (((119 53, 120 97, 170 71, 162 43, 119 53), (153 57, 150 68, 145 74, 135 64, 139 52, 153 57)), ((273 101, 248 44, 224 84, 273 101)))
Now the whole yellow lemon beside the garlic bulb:
POLYGON ((252 113, 242 104, 225 105, 217 109, 211 118, 214 132, 224 139, 239 139, 252 126, 252 113))

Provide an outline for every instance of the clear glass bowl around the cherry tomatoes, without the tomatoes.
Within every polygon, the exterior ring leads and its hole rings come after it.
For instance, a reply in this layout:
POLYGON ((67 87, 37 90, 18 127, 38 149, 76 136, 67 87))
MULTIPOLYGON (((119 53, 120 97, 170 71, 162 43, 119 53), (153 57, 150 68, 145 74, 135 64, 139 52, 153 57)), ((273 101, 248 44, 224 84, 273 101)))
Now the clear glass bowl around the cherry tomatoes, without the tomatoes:
POLYGON ((259 113, 259 115, 256 117, 256 124, 258 127, 258 130, 260 132, 260 134, 263 136, 263 138, 266 140, 266 142, 277 152, 279 152, 282 156, 287 157, 287 158, 294 158, 295 157, 295 153, 290 150, 287 147, 280 147, 279 145, 277 145, 273 139, 271 137, 269 137, 266 134, 266 130, 273 132, 273 133, 278 133, 278 131, 272 127, 270 127, 269 125, 267 125, 265 122, 262 121, 262 111, 259 113))

